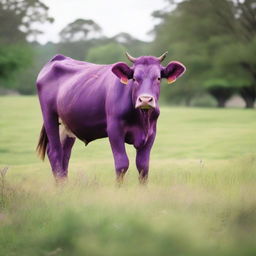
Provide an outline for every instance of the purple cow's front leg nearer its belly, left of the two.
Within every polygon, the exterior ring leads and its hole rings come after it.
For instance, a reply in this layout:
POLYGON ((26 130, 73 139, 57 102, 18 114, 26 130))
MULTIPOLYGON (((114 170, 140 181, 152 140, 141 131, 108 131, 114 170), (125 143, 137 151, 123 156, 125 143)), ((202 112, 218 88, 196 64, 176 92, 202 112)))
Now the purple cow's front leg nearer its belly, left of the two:
POLYGON ((118 124, 112 124, 108 127, 108 137, 115 161, 116 180, 118 184, 122 184, 124 175, 129 167, 123 129, 118 124))

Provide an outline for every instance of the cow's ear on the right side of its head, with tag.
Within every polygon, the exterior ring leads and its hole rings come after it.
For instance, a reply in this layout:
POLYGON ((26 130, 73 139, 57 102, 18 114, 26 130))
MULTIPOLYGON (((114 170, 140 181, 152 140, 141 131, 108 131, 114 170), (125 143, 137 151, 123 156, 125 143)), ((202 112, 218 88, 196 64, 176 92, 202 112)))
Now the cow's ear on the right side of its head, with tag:
POLYGON ((178 61, 171 61, 161 72, 161 76, 166 78, 168 84, 174 83, 177 78, 182 76, 186 71, 186 67, 178 62, 178 61))

